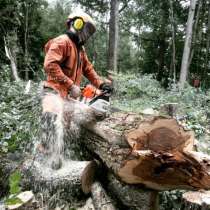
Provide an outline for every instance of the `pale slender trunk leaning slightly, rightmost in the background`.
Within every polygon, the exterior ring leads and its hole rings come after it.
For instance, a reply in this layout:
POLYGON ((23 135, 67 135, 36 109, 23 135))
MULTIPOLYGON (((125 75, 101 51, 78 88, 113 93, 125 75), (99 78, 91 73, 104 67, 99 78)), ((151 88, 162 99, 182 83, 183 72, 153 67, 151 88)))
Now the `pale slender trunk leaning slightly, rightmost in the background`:
POLYGON ((195 8, 196 8, 197 0, 190 1, 190 8, 187 20, 187 29, 186 29, 186 38, 185 38, 185 45, 184 45, 184 52, 182 56, 182 64, 181 64, 181 72, 180 72, 180 79, 179 79, 179 87, 183 89, 184 83, 187 80, 188 74, 188 63, 190 57, 190 50, 192 44, 192 34, 193 34, 193 20, 195 15, 195 8))

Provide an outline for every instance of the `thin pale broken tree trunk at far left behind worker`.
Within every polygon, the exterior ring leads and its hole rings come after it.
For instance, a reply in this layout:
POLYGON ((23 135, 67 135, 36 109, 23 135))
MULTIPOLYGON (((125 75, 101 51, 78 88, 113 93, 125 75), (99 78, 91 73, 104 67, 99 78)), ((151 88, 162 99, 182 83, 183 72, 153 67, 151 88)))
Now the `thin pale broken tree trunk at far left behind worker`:
POLYGON ((10 60, 10 66, 12 70, 12 77, 15 81, 20 81, 20 78, 18 76, 18 70, 17 70, 17 62, 16 62, 16 50, 17 46, 14 46, 12 42, 16 42, 17 39, 17 33, 14 32, 14 35, 10 37, 9 35, 6 35, 4 37, 4 47, 5 47, 5 53, 7 58, 10 60))

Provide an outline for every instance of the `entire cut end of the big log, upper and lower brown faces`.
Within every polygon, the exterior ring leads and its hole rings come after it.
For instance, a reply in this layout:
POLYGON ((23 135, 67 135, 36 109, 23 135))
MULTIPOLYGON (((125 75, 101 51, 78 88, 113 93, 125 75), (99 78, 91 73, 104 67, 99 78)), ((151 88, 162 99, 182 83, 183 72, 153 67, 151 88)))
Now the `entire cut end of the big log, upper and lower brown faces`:
MULTIPOLYGON (((132 152, 118 171, 123 181, 144 183, 157 190, 196 187, 189 180, 192 176, 199 181, 200 165, 185 154, 193 150, 194 135, 175 119, 154 117, 142 121, 137 129, 126 132, 126 139, 132 152)), ((197 186, 203 187, 203 183, 197 186)))

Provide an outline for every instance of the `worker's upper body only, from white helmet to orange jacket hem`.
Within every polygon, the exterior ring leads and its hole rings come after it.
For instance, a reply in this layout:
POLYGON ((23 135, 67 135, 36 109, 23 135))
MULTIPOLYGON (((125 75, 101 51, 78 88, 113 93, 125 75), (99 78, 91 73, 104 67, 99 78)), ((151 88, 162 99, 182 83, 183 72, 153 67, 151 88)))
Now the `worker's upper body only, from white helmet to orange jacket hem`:
POLYGON ((68 31, 45 45, 44 69, 47 81, 44 87, 52 88, 61 97, 78 98, 80 82, 84 75, 96 88, 112 91, 104 83, 87 58, 83 45, 96 31, 93 19, 86 13, 73 13, 67 19, 68 31))

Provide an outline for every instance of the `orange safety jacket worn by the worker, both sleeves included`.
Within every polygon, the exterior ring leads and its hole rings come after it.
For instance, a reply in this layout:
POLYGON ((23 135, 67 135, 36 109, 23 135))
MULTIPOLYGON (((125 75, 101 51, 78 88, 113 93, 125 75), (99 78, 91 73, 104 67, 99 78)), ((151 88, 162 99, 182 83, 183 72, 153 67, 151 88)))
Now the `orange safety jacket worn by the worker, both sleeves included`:
POLYGON ((75 43, 67 34, 48 41, 45 53, 44 70, 47 81, 44 82, 44 87, 56 90, 61 97, 67 97, 73 84, 80 86, 82 75, 97 88, 103 83, 88 60, 84 48, 78 55, 75 43))

